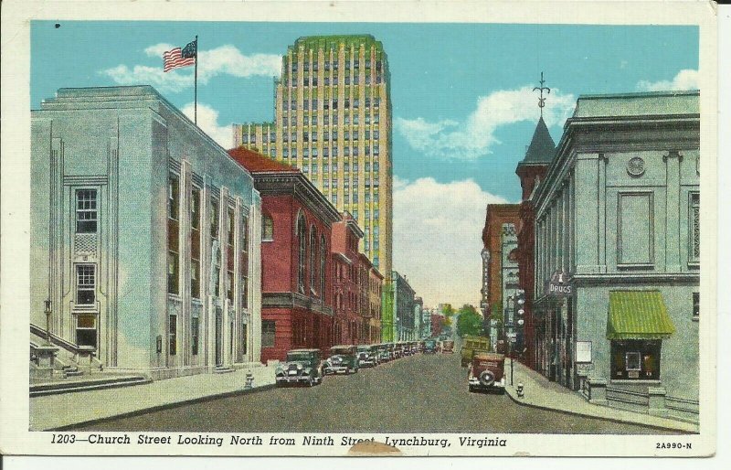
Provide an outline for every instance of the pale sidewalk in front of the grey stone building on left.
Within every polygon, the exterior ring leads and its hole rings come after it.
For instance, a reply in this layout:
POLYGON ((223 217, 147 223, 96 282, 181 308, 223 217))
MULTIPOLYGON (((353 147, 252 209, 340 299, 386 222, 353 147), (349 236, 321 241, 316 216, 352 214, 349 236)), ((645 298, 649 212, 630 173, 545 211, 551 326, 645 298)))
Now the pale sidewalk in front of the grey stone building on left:
POLYGON ((227 374, 196 374, 119 389, 79 391, 30 399, 30 430, 48 431, 175 405, 274 387, 274 368, 251 367, 227 374), (244 390, 251 370, 254 389, 244 390))

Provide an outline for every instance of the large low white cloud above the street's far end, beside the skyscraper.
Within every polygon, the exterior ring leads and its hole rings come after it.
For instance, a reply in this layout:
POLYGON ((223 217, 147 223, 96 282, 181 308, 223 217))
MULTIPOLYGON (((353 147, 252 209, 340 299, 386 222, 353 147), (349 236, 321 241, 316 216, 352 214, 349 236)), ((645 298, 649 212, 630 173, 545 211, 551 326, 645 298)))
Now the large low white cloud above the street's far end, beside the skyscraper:
POLYGON ((473 180, 394 178, 394 269, 426 305, 477 304, 485 206, 507 201, 473 180))

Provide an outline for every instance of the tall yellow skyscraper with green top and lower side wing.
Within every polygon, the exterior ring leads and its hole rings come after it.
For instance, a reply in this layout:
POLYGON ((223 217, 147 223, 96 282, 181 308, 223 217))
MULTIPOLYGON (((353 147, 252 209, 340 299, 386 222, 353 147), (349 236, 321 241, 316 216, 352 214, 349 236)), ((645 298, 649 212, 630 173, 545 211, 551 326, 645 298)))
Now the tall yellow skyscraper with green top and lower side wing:
POLYGON ((391 100, 387 54, 369 35, 300 37, 282 59, 274 122, 234 124, 234 146, 302 169, 363 228, 391 272, 391 100))

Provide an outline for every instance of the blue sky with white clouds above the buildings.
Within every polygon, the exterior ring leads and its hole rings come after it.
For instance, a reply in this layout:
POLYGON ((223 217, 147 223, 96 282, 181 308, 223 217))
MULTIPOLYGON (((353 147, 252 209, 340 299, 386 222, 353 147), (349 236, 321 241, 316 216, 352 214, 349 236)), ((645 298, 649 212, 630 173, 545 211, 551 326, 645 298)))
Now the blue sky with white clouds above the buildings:
POLYGON ((164 45, 183 47, 198 35, 199 124, 228 147, 230 123, 273 118, 271 75, 297 37, 362 33, 383 42, 391 71, 394 265, 428 304, 477 302, 484 203, 520 198, 514 169, 535 129, 531 90, 541 71, 552 89, 546 123, 556 142, 580 94, 697 83, 697 27, 34 22, 31 107, 62 87, 146 83, 187 111, 193 68, 163 74, 161 56, 164 45), (434 205, 458 215, 430 217, 434 205), (413 233, 425 218, 426 231, 446 238, 413 233), (445 242, 445 265, 432 274, 406 251, 445 242))

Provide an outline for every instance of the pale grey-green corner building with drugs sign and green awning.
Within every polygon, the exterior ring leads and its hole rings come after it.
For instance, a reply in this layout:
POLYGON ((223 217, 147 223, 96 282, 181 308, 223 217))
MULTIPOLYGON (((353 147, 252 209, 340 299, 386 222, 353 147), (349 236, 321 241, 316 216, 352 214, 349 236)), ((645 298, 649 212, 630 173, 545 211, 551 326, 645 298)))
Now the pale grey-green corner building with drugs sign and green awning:
POLYGON ((537 369, 613 406, 697 413, 698 106, 579 97, 533 198, 537 369), (570 293, 546 292, 556 273, 570 293))

